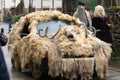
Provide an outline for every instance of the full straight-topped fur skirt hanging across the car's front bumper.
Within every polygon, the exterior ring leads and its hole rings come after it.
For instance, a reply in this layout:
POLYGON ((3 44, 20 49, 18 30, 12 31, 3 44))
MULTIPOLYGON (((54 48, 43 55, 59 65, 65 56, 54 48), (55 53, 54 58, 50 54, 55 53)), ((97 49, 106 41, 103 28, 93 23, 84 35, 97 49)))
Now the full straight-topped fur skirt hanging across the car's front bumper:
POLYGON ((92 80, 94 58, 63 58, 61 75, 69 80, 92 80))

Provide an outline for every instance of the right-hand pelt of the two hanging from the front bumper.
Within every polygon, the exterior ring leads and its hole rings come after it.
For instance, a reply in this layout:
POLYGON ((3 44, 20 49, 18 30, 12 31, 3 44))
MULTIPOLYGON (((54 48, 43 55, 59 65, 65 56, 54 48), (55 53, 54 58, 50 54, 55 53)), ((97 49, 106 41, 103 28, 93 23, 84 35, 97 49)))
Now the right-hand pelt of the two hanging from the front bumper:
POLYGON ((94 73, 94 58, 78 59, 78 74, 81 80, 92 80, 94 73))

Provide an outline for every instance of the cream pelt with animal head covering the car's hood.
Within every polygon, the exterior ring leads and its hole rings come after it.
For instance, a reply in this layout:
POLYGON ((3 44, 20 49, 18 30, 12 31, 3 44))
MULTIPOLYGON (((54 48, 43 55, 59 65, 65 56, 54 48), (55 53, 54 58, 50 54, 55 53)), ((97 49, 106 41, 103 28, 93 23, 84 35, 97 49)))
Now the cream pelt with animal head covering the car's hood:
POLYGON ((84 32, 77 26, 64 27, 55 38, 56 41, 60 43, 58 46, 63 52, 63 56, 71 55, 87 57, 93 55, 93 46, 88 43, 89 38, 85 38, 84 32))

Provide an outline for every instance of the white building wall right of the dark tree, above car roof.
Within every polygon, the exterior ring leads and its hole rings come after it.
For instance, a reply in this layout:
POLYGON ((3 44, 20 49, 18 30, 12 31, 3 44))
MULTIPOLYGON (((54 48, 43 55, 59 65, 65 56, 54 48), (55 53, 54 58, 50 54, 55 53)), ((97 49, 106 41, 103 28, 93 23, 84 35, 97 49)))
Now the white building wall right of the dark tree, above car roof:
POLYGON ((29 8, 29 1, 36 11, 62 9, 62 0, 24 0, 25 9, 29 8))

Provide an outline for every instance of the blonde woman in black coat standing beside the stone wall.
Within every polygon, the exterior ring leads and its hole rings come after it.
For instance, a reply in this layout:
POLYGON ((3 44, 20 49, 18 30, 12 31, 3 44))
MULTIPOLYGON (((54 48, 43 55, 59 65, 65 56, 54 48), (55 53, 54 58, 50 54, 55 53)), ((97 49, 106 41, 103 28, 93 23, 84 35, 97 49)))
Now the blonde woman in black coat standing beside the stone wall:
POLYGON ((111 24, 109 24, 104 8, 100 5, 95 7, 94 17, 92 18, 92 25, 97 30, 100 30, 97 32, 96 37, 112 44, 112 37, 110 34, 111 24))

